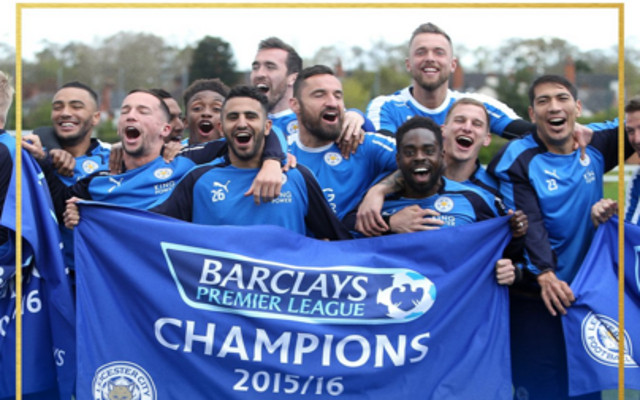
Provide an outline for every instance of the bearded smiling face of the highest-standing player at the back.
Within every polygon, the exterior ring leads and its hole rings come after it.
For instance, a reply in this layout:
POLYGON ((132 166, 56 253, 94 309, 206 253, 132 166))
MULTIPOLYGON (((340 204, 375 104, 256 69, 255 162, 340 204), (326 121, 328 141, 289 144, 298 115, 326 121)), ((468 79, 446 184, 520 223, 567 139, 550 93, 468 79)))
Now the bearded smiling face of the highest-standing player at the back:
POLYGON ((446 86, 456 65, 451 44, 438 33, 416 35, 409 47, 409 57, 405 60, 413 85, 428 92, 446 86))

